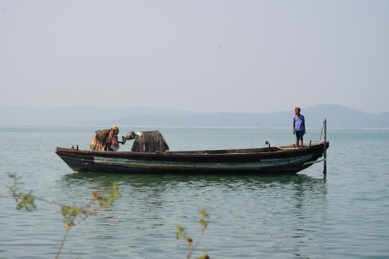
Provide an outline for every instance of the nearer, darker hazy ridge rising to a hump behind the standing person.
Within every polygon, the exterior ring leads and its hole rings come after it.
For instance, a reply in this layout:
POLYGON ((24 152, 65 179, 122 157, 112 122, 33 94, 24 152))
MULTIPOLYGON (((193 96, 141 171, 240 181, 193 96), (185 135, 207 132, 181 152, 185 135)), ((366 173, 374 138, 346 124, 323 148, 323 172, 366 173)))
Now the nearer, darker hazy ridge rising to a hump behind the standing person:
MULTIPOLYGON (((370 114, 341 105, 322 104, 301 111, 307 128, 321 128, 324 117, 328 128, 389 128, 389 113, 370 114)), ((79 122, 85 126, 155 126, 155 127, 255 127, 291 128, 293 111, 276 113, 213 113, 177 116, 127 116, 112 120, 79 122)))

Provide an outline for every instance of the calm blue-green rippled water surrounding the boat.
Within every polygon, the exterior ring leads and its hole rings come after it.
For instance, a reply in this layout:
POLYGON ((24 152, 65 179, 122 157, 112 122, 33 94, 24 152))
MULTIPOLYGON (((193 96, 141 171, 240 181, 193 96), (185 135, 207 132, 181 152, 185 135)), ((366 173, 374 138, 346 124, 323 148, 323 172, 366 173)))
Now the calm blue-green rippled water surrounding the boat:
MULTIPOLYGON (((0 128, 0 194, 22 177, 23 190, 84 204, 117 181, 113 206, 71 229, 61 258, 185 258, 177 224, 197 239, 197 210, 212 206, 195 256, 211 258, 388 258, 389 130, 328 130, 322 163, 293 176, 183 176, 74 173, 54 146, 88 148, 95 129, 0 128)), ((121 129, 126 132, 130 129, 121 129)), ((131 129, 134 131, 144 129, 131 129)), ((160 129, 171 150, 293 143, 286 129, 160 129)), ((309 130, 305 140, 318 140, 309 130)), ((121 150, 129 150, 132 142, 121 150)), ((0 197, 0 258, 53 258, 64 234, 57 207, 17 211, 0 197)))

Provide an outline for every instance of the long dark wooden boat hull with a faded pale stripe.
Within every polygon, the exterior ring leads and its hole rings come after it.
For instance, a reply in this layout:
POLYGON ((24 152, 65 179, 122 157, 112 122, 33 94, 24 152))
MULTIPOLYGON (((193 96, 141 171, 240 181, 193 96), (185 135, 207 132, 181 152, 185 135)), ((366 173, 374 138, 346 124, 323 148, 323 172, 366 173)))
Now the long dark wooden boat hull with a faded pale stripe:
POLYGON ((290 146, 174 152, 111 152, 55 147, 76 172, 115 173, 297 173, 322 156, 329 142, 290 146))

